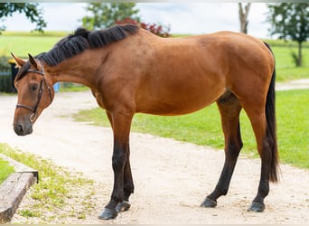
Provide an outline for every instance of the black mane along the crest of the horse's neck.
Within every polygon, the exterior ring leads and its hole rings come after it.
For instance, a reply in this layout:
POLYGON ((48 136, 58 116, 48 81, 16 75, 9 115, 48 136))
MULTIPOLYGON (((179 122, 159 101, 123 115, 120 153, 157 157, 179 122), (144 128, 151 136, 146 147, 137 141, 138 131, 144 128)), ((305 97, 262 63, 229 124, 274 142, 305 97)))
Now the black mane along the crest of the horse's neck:
POLYGON ((128 34, 137 32, 138 27, 133 24, 116 25, 105 30, 89 32, 78 28, 75 33, 68 35, 56 43, 50 52, 37 56, 51 66, 56 66, 61 61, 71 58, 87 49, 96 49, 117 42, 127 37, 128 34))

